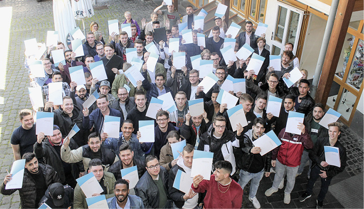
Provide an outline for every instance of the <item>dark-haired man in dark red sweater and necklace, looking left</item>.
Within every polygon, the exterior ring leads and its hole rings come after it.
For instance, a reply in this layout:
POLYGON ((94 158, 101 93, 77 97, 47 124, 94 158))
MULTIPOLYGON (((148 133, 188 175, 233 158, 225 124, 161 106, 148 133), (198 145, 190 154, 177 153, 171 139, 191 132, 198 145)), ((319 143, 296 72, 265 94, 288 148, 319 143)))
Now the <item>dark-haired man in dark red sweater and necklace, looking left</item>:
POLYGON ((194 192, 207 191, 204 198, 204 208, 241 208, 243 189, 230 177, 233 169, 229 161, 221 160, 214 164, 215 171, 210 180, 203 176, 193 177, 191 188, 194 192))

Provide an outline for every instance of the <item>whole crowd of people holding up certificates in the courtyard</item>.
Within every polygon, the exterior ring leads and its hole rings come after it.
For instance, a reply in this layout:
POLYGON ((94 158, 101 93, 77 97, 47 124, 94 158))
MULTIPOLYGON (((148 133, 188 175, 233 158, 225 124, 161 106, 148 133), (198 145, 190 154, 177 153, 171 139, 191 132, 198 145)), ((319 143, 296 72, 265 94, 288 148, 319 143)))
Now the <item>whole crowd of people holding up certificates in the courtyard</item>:
MULTIPOLYGON (((248 21, 245 31, 236 38, 237 52, 244 44, 250 45, 254 53, 265 58, 259 73, 247 71, 250 57, 246 60, 227 61, 222 59, 220 49, 226 34, 225 17, 214 19, 215 26, 206 36, 206 47, 199 46, 197 34, 203 31, 194 27, 193 8, 186 8, 187 15, 180 19, 173 5, 161 10, 166 3, 158 6, 151 14, 151 21, 141 20, 139 26, 130 12, 125 12, 125 21, 130 23, 132 36, 126 32, 113 33, 106 43, 99 25, 92 22, 90 32, 83 44, 85 56, 76 57, 72 50, 66 50, 64 43, 49 47, 41 58, 45 77, 30 74, 31 85, 42 87, 45 105, 42 108, 21 110, 21 126, 11 137, 15 160, 25 159, 23 187, 6 189, 12 178, 8 174, 0 191, 10 195, 19 190, 22 208, 38 208, 47 203, 51 208, 88 208, 86 195, 76 179, 86 173, 94 173, 105 194, 109 208, 241 208, 243 189, 250 183, 249 200, 255 208, 260 208, 256 197, 259 182, 263 176, 275 172, 271 188, 266 196, 278 189, 284 189, 284 203, 290 203, 290 193, 297 175, 306 175, 303 168, 309 164, 309 178, 306 191, 299 197, 304 201, 312 194, 317 178, 321 179, 321 189, 317 196, 317 207, 322 207, 328 185, 332 177, 343 171, 346 165, 346 151, 340 141, 338 122, 328 125, 328 129, 318 123, 325 114, 325 107, 314 102, 309 96, 310 82, 307 71, 301 70, 302 79, 287 88, 283 78, 290 77, 290 71, 299 66, 293 53, 293 44, 287 43, 282 53, 281 69, 269 67, 269 51, 265 47, 265 34, 253 32, 253 24, 248 21), (162 16, 163 22, 158 21, 162 16), (180 36, 179 23, 186 22, 192 29, 193 43, 180 36), (154 41, 154 29, 164 27, 167 41, 154 41), (173 53, 169 50, 169 39, 180 40, 179 52, 186 54, 185 66, 176 69, 173 53), (145 46, 153 43, 159 51, 155 69, 148 68, 150 56, 145 46), (126 49, 136 48, 137 59, 144 62, 140 72, 143 81, 137 86, 125 76, 124 72, 132 65, 127 62, 126 49), (55 67, 52 50, 64 50, 66 64, 55 67), (218 81, 204 92, 198 86, 202 78, 199 71, 192 68, 190 57, 201 55, 202 60, 212 60, 211 72, 218 81), (90 64, 102 61, 107 80, 94 78, 90 64), (70 67, 83 66, 86 85, 78 85, 70 77, 70 67), (245 78, 246 89, 229 93, 238 97, 236 105, 241 105, 248 125, 230 123, 227 104, 217 102, 221 86, 227 76, 245 78), (49 101, 48 84, 62 82, 63 104, 55 105, 49 101), (84 102, 95 91, 99 97, 90 107, 84 102), (146 116, 153 97, 171 93, 177 107, 168 112, 160 109, 155 119, 146 116), (279 116, 266 111, 268 98, 282 99, 279 116), (189 101, 203 99, 204 112, 191 116, 189 101), (36 112, 53 112, 53 135, 43 132, 36 134, 34 116, 36 112), (304 122, 298 125, 301 134, 286 132, 287 117, 290 111, 305 115, 304 122), (120 117, 119 138, 109 137, 104 132, 105 116, 120 117), (138 123, 154 120, 154 142, 139 142, 141 132, 138 123), (80 129, 72 138, 69 132, 77 125, 80 129), (233 131, 235 130, 235 131, 233 131), (261 148, 253 142, 273 130, 282 144, 261 155, 261 148), (171 144, 186 140, 186 146, 177 159, 174 159, 171 144), (341 166, 328 165, 323 154, 324 146, 339 148, 341 166), (194 150, 213 152, 211 176, 193 177, 189 192, 173 187, 179 170, 191 175, 194 150), (129 188, 129 180, 123 179, 121 169, 137 166, 139 181, 129 188), (274 169, 275 168, 275 169, 274 169), (209 179, 209 180, 206 180, 209 179)), ((28 67, 26 62, 26 67, 28 67)), ((148 136, 153 137, 153 136, 148 136)))

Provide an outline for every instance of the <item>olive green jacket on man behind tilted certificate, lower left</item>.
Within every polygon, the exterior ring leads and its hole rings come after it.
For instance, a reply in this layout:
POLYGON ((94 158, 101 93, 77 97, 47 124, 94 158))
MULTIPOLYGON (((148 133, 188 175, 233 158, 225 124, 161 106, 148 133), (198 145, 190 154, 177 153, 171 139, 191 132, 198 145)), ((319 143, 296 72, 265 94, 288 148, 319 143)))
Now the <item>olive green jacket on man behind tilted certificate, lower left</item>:
MULTIPOLYGON (((114 174, 109 172, 104 172, 104 186, 106 186, 106 194, 105 194, 106 199, 115 196, 114 193, 115 182, 116 179, 114 177, 114 174)), ((73 208, 88 208, 86 202, 86 196, 78 183, 75 187, 73 208)))

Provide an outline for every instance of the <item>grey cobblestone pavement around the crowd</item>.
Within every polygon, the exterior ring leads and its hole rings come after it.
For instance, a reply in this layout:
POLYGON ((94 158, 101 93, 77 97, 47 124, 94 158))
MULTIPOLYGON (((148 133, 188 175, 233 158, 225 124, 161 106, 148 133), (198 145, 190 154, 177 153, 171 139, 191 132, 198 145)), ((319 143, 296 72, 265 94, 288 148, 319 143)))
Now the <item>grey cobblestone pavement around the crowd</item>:
MULTIPOLYGON (((13 158, 13 152, 10 146, 10 137, 14 128, 20 125, 18 112, 24 108, 31 108, 27 87, 29 87, 28 74, 24 69, 24 40, 37 38, 38 42, 45 42, 48 30, 54 30, 53 22, 53 2, 52 0, 43 0, 38 3, 36 0, 3 0, 0 7, 12 7, 12 22, 10 29, 10 40, 8 50, 8 62, 5 69, 0 69, 0 77, 5 79, 5 85, 0 85, 0 181, 2 181, 10 170, 13 158), (4 86, 4 88, 1 88, 4 86)), ((140 0, 114 0, 97 5, 95 16, 85 20, 86 31, 92 21, 97 21, 100 30, 103 32, 104 40, 108 39, 107 21, 113 19, 124 20, 126 10, 132 13, 133 19, 140 23, 142 18, 150 20, 150 13, 156 7, 153 1, 142 2, 140 0)), ((76 21, 82 29, 82 22, 76 21)), ((8 33, 2 31, 2 33, 8 33)), ((4 40, 2 40, 4 41, 4 40)), ((2 55, 3 56, 3 55, 2 55)), ((344 145, 348 150, 348 166, 345 173, 340 179, 353 176, 362 172, 363 167, 363 139, 362 136, 356 136, 350 129, 344 127, 342 130, 344 145)), ((266 178, 271 185, 273 178, 266 178), (269 179, 269 180, 268 180, 269 179)), ((302 177, 303 178, 303 177, 302 177)), ((304 183, 304 180, 299 182, 304 183)), ((268 184, 267 184, 268 185, 268 184)), ((269 186, 270 186, 269 185, 269 186)), ((266 189, 259 188, 258 194, 261 194, 259 200, 262 206, 279 207, 280 204, 274 203, 272 198, 263 197, 266 189), (260 193, 259 193, 260 192, 260 193), (263 204, 265 202, 265 204, 263 204), (273 202, 273 203, 270 203, 273 202)), ((361 186, 362 187, 362 186, 361 186)), ((298 186, 297 189, 301 188, 298 186)), ((245 188, 246 190, 247 188, 245 188)), ((245 195, 247 197, 247 195, 245 195)), ((331 195, 332 196, 332 195, 331 195)), ((246 199, 245 199, 246 200, 246 199)), ((244 200, 244 202, 246 202, 244 200)), ((248 200, 247 200, 248 201, 248 200)), ((296 202, 295 202, 296 203, 296 202)), ((18 192, 13 195, 3 196, 0 194, 0 208, 19 208, 20 197, 18 192)), ((245 205, 251 207, 251 204, 245 205)), ((289 205, 289 207, 299 207, 304 205, 289 205)), ((307 205, 309 206, 309 205, 307 205)))

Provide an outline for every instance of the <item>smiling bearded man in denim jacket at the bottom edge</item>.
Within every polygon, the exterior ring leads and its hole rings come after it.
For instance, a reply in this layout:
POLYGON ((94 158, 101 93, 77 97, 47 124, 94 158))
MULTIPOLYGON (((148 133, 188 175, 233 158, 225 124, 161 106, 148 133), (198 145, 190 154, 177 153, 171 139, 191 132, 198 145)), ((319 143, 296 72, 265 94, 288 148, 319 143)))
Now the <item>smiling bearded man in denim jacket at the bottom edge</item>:
POLYGON ((129 194, 129 182, 125 179, 119 179, 115 182, 114 197, 108 198, 109 208, 144 208, 142 199, 139 196, 129 194))

